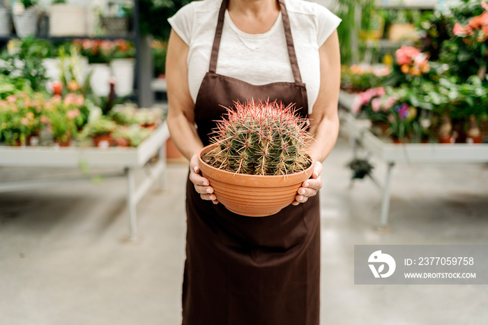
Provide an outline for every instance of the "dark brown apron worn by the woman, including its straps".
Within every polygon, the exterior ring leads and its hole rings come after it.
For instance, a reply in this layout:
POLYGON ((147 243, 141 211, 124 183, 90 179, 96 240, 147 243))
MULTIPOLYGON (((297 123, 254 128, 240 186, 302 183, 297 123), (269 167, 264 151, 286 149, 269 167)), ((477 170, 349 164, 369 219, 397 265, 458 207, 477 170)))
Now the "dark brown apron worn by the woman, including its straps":
MULTIPOLYGON (((233 102, 254 98, 296 103, 307 116, 287 9, 279 0, 295 82, 254 86, 215 73, 227 0, 222 1, 208 73, 195 103, 204 144, 233 102)), ((270 53, 270 59, 272 54, 270 53)), ((184 325, 319 325, 319 195, 273 216, 231 213, 186 188, 187 234, 183 275, 184 325)))

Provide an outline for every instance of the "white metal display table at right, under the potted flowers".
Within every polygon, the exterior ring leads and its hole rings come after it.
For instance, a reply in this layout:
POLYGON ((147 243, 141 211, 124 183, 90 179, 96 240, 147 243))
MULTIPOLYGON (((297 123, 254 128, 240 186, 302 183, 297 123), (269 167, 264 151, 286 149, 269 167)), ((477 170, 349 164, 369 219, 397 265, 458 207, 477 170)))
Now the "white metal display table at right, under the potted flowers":
POLYGON ((369 131, 368 121, 355 119, 351 114, 342 114, 342 126, 349 134, 353 156, 357 158, 358 146, 386 162, 386 176, 381 184, 373 175, 369 177, 383 192, 380 227, 388 224, 390 206, 390 183, 392 168, 397 162, 420 163, 485 163, 488 162, 488 144, 393 144, 384 142, 369 131))

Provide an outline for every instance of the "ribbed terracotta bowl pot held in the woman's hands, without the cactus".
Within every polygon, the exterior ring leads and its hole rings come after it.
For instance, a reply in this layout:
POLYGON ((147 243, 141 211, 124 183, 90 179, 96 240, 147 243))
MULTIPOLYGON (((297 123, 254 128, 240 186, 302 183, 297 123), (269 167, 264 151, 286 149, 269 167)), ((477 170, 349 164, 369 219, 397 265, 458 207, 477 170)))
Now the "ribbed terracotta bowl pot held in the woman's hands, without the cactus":
POLYGON ((199 167, 210 181, 215 197, 231 212, 248 217, 278 213, 295 200, 298 188, 312 175, 313 165, 287 176, 262 176, 226 172, 207 165, 201 157, 215 144, 201 149, 199 167))

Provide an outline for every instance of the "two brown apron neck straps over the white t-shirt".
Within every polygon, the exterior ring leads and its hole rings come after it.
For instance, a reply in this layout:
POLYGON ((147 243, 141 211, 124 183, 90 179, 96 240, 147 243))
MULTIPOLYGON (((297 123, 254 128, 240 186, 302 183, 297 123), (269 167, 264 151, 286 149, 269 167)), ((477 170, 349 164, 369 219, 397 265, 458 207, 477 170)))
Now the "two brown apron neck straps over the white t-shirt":
MULTIPOLYGON (((302 77, 300 75, 300 69, 298 68, 298 61, 296 59, 295 47, 293 45, 293 38, 291 37, 290 20, 288 17, 288 11, 284 6, 284 0, 278 0, 280 3, 280 10, 283 20, 284 36, 287 38, 288 56, 291 63, 291 70, 293 71, 293 78, 297 84, 302 84, 302 77)), ((222 0, 222 5, 219 10, 219 17, 217 22, 217 28, 215 29, 215 38, 213 38, 212 54, 210 58, 210 66, 208 71, 215 73, 217 70, 217 57, 219 54, 220 39, 222 38, 222 29, 224 28, 224 14, 227 9, 229 0, 222 0)))

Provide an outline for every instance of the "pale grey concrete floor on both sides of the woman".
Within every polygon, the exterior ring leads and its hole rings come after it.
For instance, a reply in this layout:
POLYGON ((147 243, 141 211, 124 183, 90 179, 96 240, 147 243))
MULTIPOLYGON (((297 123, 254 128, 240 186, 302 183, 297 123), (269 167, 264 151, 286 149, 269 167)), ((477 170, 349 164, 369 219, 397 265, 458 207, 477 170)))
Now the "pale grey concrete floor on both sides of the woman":
MULTIPOLYGON (((488 324, 487 286, 353 283, 355 244, 488 244, 488 166, 398 165, 378 232, 381 194, 349 188, 350 158, 340 140, 324 163, 322 324, 488 324)), ((59 172, 77 173, 0 168, 0 181, 59 172)), ((169 188, 139 204, 137 244, 123 241, 123 179, 1 193, 0 324, 180 324, 186 172, 169 165, 169 188)))

